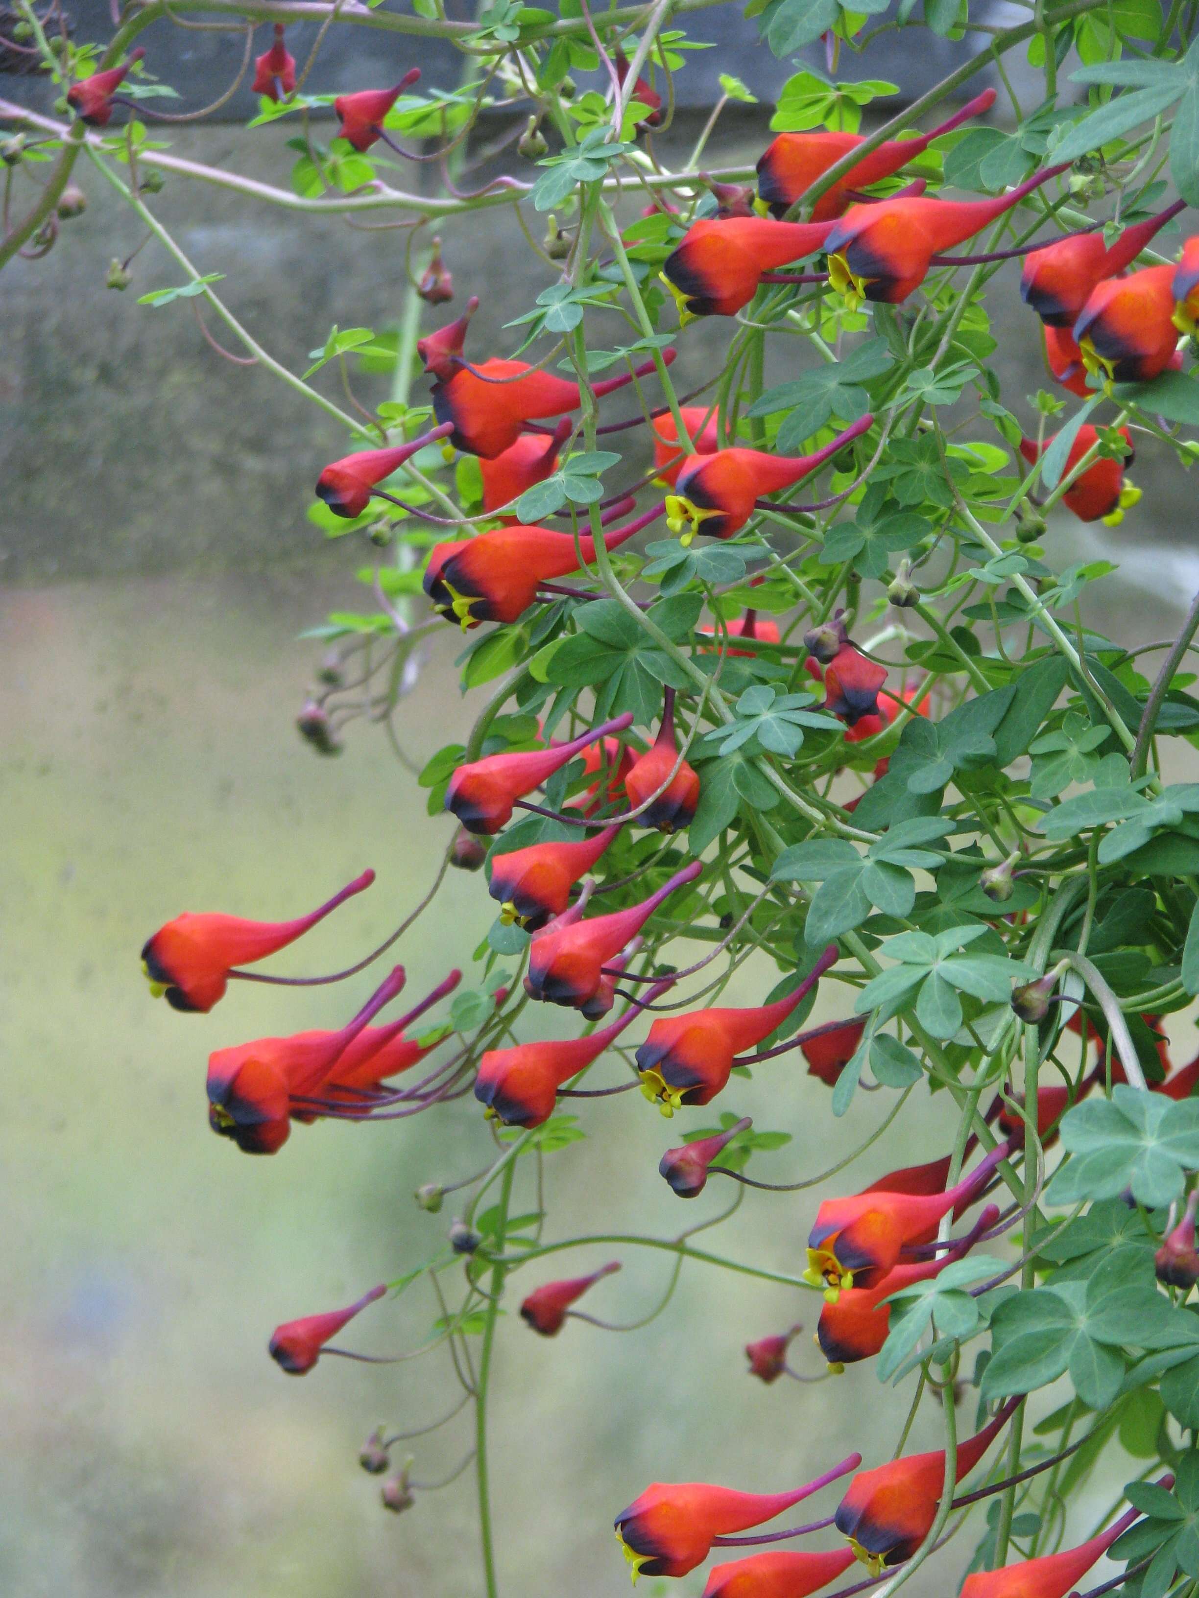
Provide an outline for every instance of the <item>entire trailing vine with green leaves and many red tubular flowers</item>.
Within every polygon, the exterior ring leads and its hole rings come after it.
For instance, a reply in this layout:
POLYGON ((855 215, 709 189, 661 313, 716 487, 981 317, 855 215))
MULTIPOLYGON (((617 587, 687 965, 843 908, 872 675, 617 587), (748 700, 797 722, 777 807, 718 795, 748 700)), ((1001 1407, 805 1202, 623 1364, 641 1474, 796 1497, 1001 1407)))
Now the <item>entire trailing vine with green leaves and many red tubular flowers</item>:
MULTIPOLYGON (((806 1472, 783 1459, 767 1473, 777 1493, 614 1489, 635 1577, 713 1560, 705 1598, 890 1598, 935 1560, 966 1598, 1065 1598, 1106 1556, 1116 1574, 1097 1571, 1092 1595, 1191 1598, 1199 1058, 1175 1069, 1170 1051, 1199 996, 1199 786, 1167 781, 1159 756, 1199 732, 1199 598, 1177 639, 1108 639, 1082 602, 1111 569, 1063 564, 1054 547, 1062 515, 1132 511, 1117 537, 1135 531, 1143 443, 1159 471, 1199 449, 1199 235, 1183 237, 1199 205, 1194 6, 1066 0, 999 27, 967 0, 881 21, 835 0, 753 0, 748 32, 780 58, 823 35, 828 74, 788 81, 772 139, 739 169, 719 155, 724 105, 753 97, 734 78, 689 160, 671 165, 662 144, 703 0, 500 0, 473 21, 438 0, 315 5, 302 64, 288 16, 240 0, 126 8, 104 50, 74 42, 58 0, 16 3, 5 43, 40 61, 59 101, 54 115, 0 102, 0 264, 54 248, 80 209, 72 174, 90 171, 129 224, 109 288, 137 280, 136 315, 163 320, 190 299, 214 355, 323 412, 309 516, 369 548, 376 609, 321 630, 297 725, 337 754, 355 719, 382 722, 444 815, 425 896, 328 976, 261 967, 369 871, 307 914, 281 890, 261 914, 283 919, 174 916, 142 949, 152 992, 232 1021, 237 983, 353 983, 396 944, 411 960, 417 922, 446 946, 448 973, 398 1018, 400 965, 372 992, 368 976, 353 999, 331 994, 326 1031, 209 1056, 213 1130, 243 1152, 304 1159, 293 1128, 329 1119, 435 1114, 491 1139, 481 1170, 422 1173, 420 1210, 457 1195, 441 1246, 424 1258, 416 1226, 430 1222, 414 1216, 395 1278, 283 1323, 273 1358, 289 1374, 323 1355, 444 1361, 456 1401, 428 1425, 379 1429, 361 1464, 393 1512, 435 1513, 424 1499, 464 1491, 470 1472, 496 1598, 497 1346, 529 1330, 639 1338, 673 1314, 684 1269, 729 1274, 748 1373, 796 1405, 795 1432, 822 1435, 827 1384, 847 1365, 873 1363, 887 1401, 862 1453, 820 1461, 799 1488, 806 1472), (246 137, 289 118, 291 174, 249 179, 237 155, 205 166, 149 136, 155 99, 187 104, 173 27, 192 11, 246 34, 261 96, 246 137), (321 46, 361 26, 377 81, 334 96, 321 46), (860 107, 890 86, 833 74, 918 27, 954 40, 961 62, 862 133, 860 107), (419 75, 424 38, 457 48, 457 81, 419 75), (1031 109, 1007 88, 1017 54, 1042 74, 1031 109), (977 81, 993 64, 1002 93, 977 81), (571 74, 588 70, 603 86, 580 94, 571 74), (513 129, 512 169, 472 189, 484 113, 513 129), (403 230, 398 331, 357 326, 347 304, 337 328, 312 329, 309 371, 291 371, 158 217, 166 179, 403 230), (465 270, 456 224, 484 229, 499 208, 529 244, 512 347, 470 331, 476 299, 436 312, 465 270), (145 278, 145 238, 174 281, 145 278), (1031 400, 991 369, 999 304, 1044 350, 1031 400), (711 318, 715 363, 695 360, 695 316, 711 318), (392 371, 374 407, 355 388, 364 358, 392 371), (446 626, 465 634, 462 686, 486 700, 460 741, 417 749, 403 705, 424 639, 446 626), (492 924, 475 949, 436 919, 449 869, 483 873, 492 924), (817 1000, 828 1013, 809 1024, 817 1000), (804 1067, 806 1115, 825 1117, 833 1147, 827 1170, 787 1171, 767 1160, 791 1141, 771 1106, 804 1067), (956 1111, 946 1143, 863 1183, 852 1165, 932 1095, 956 1111), (590 1101, 609 1096, 601 1120, 590 1101), (596 1191, 593 1230, 563 1235, 571 1151, 651 1107, 678 1117, 657 1175, 631 1168, 631 1139, 609 1159, 630 1189, 644 1179, 638 1213, 675 1213, 678 1197, 700 1218, 625 1232, 596 1191), (795 1238, 785 1267, 708 1246, 740 1205, 795 1238), (649 1309, 617 1275, 635 1251, 662 1267, 649 1309), (579 1270, 561 1274, 558 1254, 579 1270), (790 1330, 758 1320, 756 1283, 793 1296, 774 1322, 790 1330), (427 1333, 388 1342, 384 1299, 420 1291, 427 1333), (934 1406, 943 1446, 914 1453, 913 1422, 934 1406), (448 1473, 392 1462, 400 1441, 419 1453, 443 1429, 448 1473), (1084 1501, 1100 1462, 1124 1491, 1084 1501), (811 1521, 774 1524, 817 1494, 811 1521)), ((713 1339, 694 1374, 705 1390, 740 1381, 739 1347, 713 1339)), ((363 1374, 364 1414, 387 1382, 363 1374)), ((668 1478, 684 1472, 663 1459, 668 1478)), ((571 1523, 553 1521, 547 1582, 572 1555, 571 1523)))

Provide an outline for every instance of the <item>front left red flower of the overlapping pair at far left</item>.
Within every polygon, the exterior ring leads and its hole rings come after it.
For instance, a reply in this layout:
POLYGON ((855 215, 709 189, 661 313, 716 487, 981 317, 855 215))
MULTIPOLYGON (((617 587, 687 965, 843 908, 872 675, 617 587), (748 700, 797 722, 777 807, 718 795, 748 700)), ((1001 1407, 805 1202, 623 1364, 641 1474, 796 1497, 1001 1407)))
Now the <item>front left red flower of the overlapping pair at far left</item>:
POLYGON ((396 965, 341 1032, 259 1037, 208 1056, 208 1123, 243 1154, 277 1154, 291 1131, 293 1098, 309 1101, 334 1071, 342 1051, 404 986, 396 965))

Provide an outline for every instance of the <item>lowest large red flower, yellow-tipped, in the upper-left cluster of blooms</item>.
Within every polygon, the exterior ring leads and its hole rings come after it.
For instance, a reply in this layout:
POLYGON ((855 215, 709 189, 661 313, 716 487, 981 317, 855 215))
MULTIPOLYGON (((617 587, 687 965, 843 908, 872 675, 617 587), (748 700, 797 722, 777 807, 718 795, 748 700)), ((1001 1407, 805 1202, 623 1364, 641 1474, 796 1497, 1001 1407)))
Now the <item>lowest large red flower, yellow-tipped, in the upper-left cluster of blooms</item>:
MULTIPOLYGON (((604 548, 617 550, 660 515, 660 507, 611 527, 604 548)), ((425 567, 424 588, 433 609, 462 623, 468 633, 483 622, 515 622, 537 598, 540 583, 579 570, 595 559, 595 539, 555 532, 550 527, 512 523, 492 527, 475 539, 456 539, 433 547, 425 567)))

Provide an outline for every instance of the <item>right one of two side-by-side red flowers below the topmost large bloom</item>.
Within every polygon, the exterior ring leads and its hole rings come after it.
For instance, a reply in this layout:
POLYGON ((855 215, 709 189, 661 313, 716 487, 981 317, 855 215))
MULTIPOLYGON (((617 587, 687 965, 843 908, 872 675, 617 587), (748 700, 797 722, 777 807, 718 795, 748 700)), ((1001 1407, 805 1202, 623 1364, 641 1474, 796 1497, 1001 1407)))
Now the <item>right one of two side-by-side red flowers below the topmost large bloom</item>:
POLYGON ((934 256, 974 238, 1065 169, 1049 166, 996 200, 921 197, 850 206, 825 241, 830 281, 854 305, 863 299, 898 305, 924 281, 934 256))

